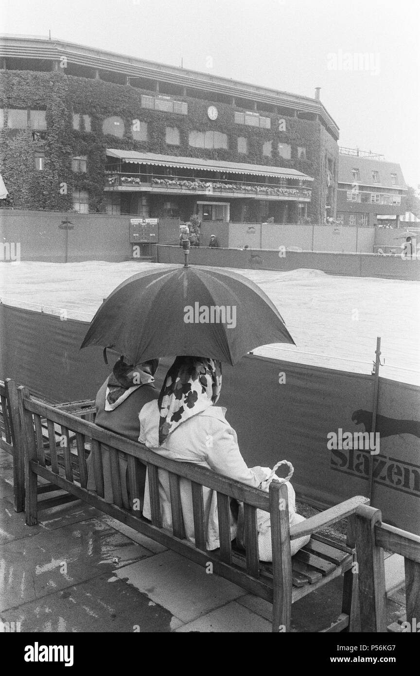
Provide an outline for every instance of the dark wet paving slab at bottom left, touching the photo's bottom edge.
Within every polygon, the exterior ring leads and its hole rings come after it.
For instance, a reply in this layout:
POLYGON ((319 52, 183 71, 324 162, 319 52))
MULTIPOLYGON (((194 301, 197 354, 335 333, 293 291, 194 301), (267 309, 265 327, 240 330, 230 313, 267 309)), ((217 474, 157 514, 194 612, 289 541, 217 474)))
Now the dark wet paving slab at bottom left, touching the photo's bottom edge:
POLYGON ((0 612, 0 620, 20 622, 21 632, 129 632, 136 643, 137 632, 169 632, 182 625, 147 594, 112 575, 0 612))

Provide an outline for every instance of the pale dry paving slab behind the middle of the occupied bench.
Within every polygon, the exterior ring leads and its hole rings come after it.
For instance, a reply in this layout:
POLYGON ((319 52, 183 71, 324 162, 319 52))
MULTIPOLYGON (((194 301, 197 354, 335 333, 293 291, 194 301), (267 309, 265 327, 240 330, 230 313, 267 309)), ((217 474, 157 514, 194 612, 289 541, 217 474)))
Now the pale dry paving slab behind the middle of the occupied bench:
POLYGON ((203 566, 169 550, 124 566, 115 571, 115 575, 147 594, 184 623, 244 594, 237 585, 207 574, 203 566))

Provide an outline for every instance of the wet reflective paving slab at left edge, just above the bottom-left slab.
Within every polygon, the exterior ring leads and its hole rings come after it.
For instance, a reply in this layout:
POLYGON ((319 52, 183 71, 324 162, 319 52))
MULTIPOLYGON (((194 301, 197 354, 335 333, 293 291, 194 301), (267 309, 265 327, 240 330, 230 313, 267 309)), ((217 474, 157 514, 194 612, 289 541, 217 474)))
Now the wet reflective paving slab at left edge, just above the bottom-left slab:
POLYGON ((152 555, 98 519, 11 541, 0 556, 0 610, 152 555))

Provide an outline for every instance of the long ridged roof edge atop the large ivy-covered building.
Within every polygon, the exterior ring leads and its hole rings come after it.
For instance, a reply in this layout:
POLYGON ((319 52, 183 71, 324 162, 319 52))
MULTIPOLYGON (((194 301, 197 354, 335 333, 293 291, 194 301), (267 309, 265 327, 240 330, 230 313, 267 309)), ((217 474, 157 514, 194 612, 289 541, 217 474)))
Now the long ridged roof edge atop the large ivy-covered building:
POLYGON ((120 72, 134 78, 152 78, 160 82, 202 89, 209 92, 209 99, 211 99, 210 94, 212 92, 222 93, 233 97, 251 99, 252 101, 290 107, 300 112, 313 112, 322 118, 335 138, 338 139, 340 133, 336 122, 325 110, 319 99, 271 89, 270 87, 259 87, 248 82, 240 82, 232 78, 215 76, 188 68, 159 64, 105 49, 86 47, 63 40, 49 40, 44 37, 2 34, 0 35, 0 56, 50 60, 59 60, 65 56, 70 64, 120 72))

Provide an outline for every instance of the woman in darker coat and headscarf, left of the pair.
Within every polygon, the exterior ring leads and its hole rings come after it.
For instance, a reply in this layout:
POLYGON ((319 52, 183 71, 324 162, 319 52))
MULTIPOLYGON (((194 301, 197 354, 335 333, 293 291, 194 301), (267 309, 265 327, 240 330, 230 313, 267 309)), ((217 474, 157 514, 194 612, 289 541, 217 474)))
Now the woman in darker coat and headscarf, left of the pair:
MULTIPOLYGON (((158 359, 153 359, 142 364, 127 364, 124 356, 115 362, 111 375, 101 385, 95 400, 96 417, 95 423, 115 434, 120 434, 132 441, 138 440, 140 423, 138 413, 145 404, 157 400, 159 390, 153 385, 155 372, 159 364, 158 359)), ((101 458, 103 468, 103 484, 105 502, 115 504, 111 482, 111 460, 109 449, 101 445, 101 458)), ((127 458, 126 454, 118 452, 120 467, 120 483, 122 503, 130 508, 130 498, 127 485, 127 458)), ((146 468, 138 463, 138 481, 140 495, 143 498, 146 468)), ((92 460, 88 458, 88 490, 96 490, 95 470, 92 460)), ((141 505, 140 505, 141 508, 141 505)))

